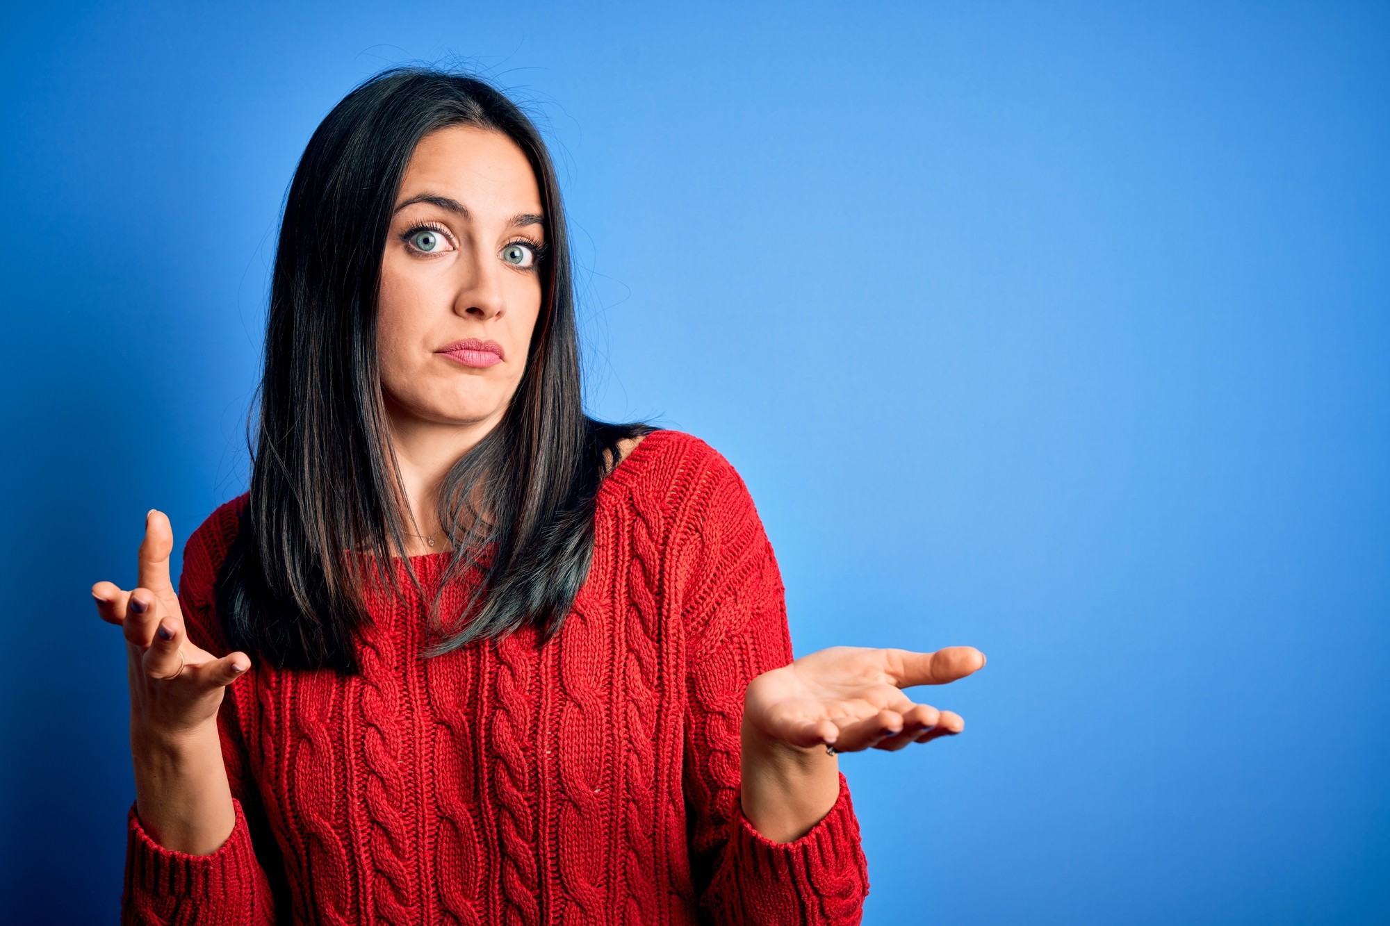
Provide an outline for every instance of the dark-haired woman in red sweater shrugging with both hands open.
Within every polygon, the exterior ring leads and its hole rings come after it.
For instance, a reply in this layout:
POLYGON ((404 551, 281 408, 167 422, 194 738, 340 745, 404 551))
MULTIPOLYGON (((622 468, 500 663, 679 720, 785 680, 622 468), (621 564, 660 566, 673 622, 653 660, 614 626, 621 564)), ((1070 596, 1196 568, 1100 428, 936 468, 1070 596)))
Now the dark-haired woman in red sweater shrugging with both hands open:
POLYGON ((867 879, 835 752, 959 733, 791 662, 744 484, 581 409, 564 213, 491 86, 378 75, 281 227, 250 492, 146 519, 97 583, 129 656, 132 923, 840 923, 867 879), (253 658, 254 656, 254 658, 253 658))

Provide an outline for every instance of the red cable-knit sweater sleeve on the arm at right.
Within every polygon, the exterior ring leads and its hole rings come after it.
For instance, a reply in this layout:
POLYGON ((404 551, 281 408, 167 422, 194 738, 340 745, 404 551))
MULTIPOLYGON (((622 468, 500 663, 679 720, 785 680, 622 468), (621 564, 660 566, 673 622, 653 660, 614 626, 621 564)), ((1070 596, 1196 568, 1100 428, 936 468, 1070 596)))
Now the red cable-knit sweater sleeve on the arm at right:
POLYGON ((844 776, 830 813, 795 843, 773 843, 742 815, 744 688, 791 662, 791 635, 777 560, 753 502, 733 467, 712 456, 696 487, 699 510, 684 519, 691 527, 677 546, 678 571, 688 576, 684 788, 702 913, 728 926, 858 923, 869 872, 844 776))

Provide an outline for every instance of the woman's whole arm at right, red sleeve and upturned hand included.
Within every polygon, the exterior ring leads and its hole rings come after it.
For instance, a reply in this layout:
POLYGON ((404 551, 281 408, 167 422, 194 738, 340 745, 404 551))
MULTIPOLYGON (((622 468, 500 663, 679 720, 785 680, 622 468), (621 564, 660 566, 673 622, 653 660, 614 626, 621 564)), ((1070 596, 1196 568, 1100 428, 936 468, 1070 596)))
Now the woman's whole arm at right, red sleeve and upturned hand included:
POLYGON ((676 545, 694 574, 681 598, 702 905, 730 925, 858 923, 867 868, 827 747, 897 751, 960 733, 959 716, 913 704, 902 688, 954 681, 984 656, 834 647, 792 662, 781 580, 752 501, 727 463, 710 469, 676 545))

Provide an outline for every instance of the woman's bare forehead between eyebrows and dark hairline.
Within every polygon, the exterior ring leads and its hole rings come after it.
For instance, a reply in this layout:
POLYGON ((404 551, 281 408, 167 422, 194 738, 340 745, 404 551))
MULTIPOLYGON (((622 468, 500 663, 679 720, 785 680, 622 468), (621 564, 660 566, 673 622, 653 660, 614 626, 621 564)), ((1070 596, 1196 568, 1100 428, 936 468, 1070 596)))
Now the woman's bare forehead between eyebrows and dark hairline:
POLYGON ((450 125, 420 139, 400 182, 403 202, 421 193, 456 199, 470 211, 541 211, 541 189, 525 153, 502 132, 450 125))

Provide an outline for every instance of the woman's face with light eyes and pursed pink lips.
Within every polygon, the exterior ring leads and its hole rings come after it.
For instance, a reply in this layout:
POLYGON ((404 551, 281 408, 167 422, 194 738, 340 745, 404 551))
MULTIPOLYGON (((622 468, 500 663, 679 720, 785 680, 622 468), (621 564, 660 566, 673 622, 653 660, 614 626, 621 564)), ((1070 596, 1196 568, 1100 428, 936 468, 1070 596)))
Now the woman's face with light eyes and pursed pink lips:
POLYGON ((431 132, 406 167, 381 263, 377 352, 395 427, 506 412, 541 313, 541 190, 500 132, 431 132))

